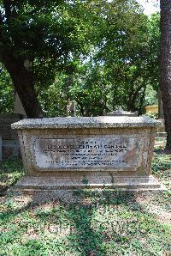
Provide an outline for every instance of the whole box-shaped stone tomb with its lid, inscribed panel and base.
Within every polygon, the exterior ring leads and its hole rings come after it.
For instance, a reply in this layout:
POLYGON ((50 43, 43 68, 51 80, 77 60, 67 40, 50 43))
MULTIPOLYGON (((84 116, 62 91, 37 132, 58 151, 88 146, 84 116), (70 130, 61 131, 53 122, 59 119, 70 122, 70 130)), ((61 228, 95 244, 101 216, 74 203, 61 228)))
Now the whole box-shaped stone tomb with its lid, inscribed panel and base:
POLYGON ((12 128, 26 175, 13 189, 160 189, 150 175, 159 125, 148 117, 23 119, 12 128))

